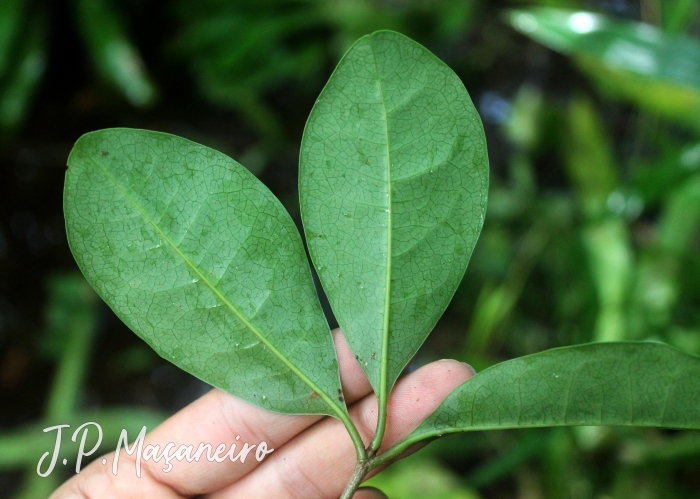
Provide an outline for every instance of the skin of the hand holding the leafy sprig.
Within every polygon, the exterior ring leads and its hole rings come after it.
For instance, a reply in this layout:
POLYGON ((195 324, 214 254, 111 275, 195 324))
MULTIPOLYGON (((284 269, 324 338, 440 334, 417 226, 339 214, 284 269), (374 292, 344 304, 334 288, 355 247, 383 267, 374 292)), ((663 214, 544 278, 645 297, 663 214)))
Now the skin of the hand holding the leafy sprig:
MULTIPOLYGON (((368 445, 376 429, 377 399, 340 330, 333 331, 333 339, 350 416, 368 445)), ((441 360, 399 378, 389 397, 387 431, 379 453, 411 433, 473 374, 466 364, 441 360)), ((269 412, 218 389, 146 435, 144 447, 159 444, 163 449, 170 442, 195 449, 200 443, 216 448, 223 442, 228 447, 237 435, 241 436, 239 442, 257 444, 264 440, 268 449, 275 450, 262 462, 253 458, 254 452, 243 464, 230 459, 221 463, 206 458, 189 463, 173 461, 168 473, 163 472, 162 461, 142 461, 140 478, 135 472, 135 452, 131 456, 120 454, 117 476, 112 474, 112 453, 103 456, 106 465, 101 458, 95 459, 49 499, 337 499, 355 467, 355 449, 337 419, 269 412)), ((409 449, 406 455, 415 450, 409 449)), ((376 489, 362 488, 354 497, 386 496, 376 489)))

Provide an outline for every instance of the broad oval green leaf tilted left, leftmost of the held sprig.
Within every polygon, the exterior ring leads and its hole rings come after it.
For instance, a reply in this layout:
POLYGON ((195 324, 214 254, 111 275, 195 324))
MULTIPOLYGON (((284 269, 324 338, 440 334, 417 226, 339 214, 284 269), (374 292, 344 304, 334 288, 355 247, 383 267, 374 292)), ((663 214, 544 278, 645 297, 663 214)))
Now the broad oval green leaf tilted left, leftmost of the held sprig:
POLYGON ((144 130, 82 136, 68 241, 90 284, 161 356, 257 406, 343 418, 301 237, 231 158, 144 130))

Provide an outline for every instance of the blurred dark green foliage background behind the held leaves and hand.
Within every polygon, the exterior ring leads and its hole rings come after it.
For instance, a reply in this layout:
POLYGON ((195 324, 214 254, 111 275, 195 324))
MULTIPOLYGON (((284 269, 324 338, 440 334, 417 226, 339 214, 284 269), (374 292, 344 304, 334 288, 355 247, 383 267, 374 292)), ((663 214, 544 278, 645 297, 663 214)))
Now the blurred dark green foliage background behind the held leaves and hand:
MULTIPOLYGON (((35 471, 51 423, 99 422, 108 452, 207 390, 79 275, 62 218, 73 142, 115 126, 191 138, 299 221, 306 117, 380 28, 457 72, 491 161, 481 239, 414 366, 621 339, 700 354, 700 2, 0 0, 0 497, 66 478, 35 471)), ((697 498, 699 469, 696 433, 558 428, 453 436, 373 481, 392 499, 697 498)))

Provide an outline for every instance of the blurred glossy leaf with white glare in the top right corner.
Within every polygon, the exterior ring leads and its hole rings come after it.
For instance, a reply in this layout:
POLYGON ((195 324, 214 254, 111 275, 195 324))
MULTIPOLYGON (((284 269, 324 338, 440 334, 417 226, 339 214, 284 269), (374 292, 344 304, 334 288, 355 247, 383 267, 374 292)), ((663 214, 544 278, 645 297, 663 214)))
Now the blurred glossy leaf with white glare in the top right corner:
POLYGON ((515 29, 571 55, 603 91, 700 129, 700 42, 592 12, 515 10, 515 29))

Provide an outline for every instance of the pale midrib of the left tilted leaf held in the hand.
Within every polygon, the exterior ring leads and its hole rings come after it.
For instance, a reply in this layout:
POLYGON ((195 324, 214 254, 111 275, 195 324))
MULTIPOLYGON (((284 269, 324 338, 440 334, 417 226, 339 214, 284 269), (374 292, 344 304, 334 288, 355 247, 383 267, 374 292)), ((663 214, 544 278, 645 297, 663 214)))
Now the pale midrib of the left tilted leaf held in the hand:
POLYGON ((277 358, 285 365, 287 366, 295 375, 299 377, 304 383, 306 383, 314 392, 318 393, 323 401, 335 412, 336 414, 341 416, 341 419, 343 419, 344 412, 340 410, 340 408, 333 402, 333 400, 326 394, 325 391, 323 391, 316 383, 311 381, 303 372, 299 370, 299 368, 294 365, 287 357, 285 357, 272 343, 270 343, 267 338, 258 330, 257 327, 255 327, 246 317, 241 313, 233 303, 231 303, 222 293, 219 291, 219 289, 212 284, 209 279, 206 277, 205 274, 203 274, 199 268, 192 262, 183 252, 180 250, 180 248, 168 237, 168 235, 163 232, 163 230, 156 224, 153 219, 144 211, 144 209, 139 205, 139 203, 136 202, 136 200, 129 194, 129 192, 121 186, 119 182, 112 176, 109 171, 107 171, 98 161, 95 161, 95 159, 92 156, 86 156, 93 164, 97 166, 97 168, 114 184, 114 186, 124 195, 126 199, 129 200, 129 202, 136 208, 141 215, 153 226, 156 231, 163 237, 163 239, 170 245, 173 250, 182 258, 182 260, 187 264, 187 266, 192 269, 192 271, 197 274, 197 276, 200 278, 200 281, 204 282, 207 287, 216 295, 216 297, 221 300, 221 302, 228 307, 231 312, 234 313, 234 315, 243 323, 244 326, 246 326, 255 336, 257 336, 260 341, 272 352, 277 358))

